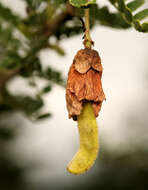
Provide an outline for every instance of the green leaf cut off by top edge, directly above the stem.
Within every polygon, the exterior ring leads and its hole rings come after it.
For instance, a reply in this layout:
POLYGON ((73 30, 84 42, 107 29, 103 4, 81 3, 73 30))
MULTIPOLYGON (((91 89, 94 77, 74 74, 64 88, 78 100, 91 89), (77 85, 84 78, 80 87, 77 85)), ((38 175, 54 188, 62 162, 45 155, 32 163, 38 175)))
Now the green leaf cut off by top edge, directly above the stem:
POLYGON ((69 3, 71 5, 73 5, 74 7, 84 7, 84 6, 88 6, 88 5, 91 5, 91 4, 95 4, 96 3, 96 0, 69 0, 69 3))

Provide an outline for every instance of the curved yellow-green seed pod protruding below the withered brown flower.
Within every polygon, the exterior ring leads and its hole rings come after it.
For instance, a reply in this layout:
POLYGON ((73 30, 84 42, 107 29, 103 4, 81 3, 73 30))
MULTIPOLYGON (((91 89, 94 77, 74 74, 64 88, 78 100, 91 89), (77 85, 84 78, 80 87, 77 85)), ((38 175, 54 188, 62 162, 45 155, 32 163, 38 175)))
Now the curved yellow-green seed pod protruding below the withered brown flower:
POLYGON ((67 170, 72 174, 81 174, 87 171, 97 158, 98 126, 91 103, 86 103, 82 113, 78 116, 80 147, 67 170))

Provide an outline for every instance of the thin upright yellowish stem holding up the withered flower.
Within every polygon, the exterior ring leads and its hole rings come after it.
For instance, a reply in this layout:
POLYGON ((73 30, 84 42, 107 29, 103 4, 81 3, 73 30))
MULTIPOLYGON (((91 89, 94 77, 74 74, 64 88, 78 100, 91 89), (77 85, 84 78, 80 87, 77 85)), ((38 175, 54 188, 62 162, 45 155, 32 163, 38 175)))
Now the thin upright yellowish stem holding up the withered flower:
POLYGON ((85 48, 91 48, 92 40, 90 37, 89 8, 85 9, 85 48))

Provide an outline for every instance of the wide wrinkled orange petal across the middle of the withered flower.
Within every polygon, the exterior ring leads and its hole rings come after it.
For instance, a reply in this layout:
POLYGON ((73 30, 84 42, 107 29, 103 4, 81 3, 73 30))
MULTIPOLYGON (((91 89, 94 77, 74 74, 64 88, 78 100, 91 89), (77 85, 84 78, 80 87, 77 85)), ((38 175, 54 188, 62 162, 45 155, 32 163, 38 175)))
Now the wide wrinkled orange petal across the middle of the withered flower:
POLYGON ((101 76, 93 69, 90 69, 85 74, 80 74, 72 65, 69 71, 67 89, 74 93, 79 101, 84 99, 101 101, 104 99, 101 76))

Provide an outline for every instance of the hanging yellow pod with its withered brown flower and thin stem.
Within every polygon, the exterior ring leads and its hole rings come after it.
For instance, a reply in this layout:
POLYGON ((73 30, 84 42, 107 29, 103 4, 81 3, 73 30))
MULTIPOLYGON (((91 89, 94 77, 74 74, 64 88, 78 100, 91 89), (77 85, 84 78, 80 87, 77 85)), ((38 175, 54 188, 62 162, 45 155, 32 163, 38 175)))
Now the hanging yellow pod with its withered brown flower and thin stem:
MULTIPOLYGON (((70 2, 73 4, 73 1, 70 2)), ((87 171, 96 160, 99 150, 96 117, 105 100, 105 94, 101 83, 103 71, 101 59, 99 53, 92 49, 92 45, 89 8, 85 7, 85 48, 79 50, 74 57, 66 87, 69 118, 78 122, 80 135, 79 150, 67 166, 67 170, 73 174, 87 171)))

